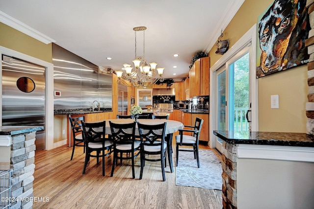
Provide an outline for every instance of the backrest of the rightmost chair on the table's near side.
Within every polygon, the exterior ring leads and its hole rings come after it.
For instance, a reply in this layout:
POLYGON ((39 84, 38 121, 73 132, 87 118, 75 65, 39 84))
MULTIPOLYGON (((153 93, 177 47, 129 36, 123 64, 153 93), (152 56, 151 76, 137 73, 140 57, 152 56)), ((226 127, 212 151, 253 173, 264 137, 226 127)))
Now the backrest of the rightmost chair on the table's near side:
POLYGON ((142 143, 145 140, 145 146, 161 145, 161 150, 163 150, 166 125, 166 122, 157 125, 146 125, 142 123, 137 123, 138 132, 142 143))

